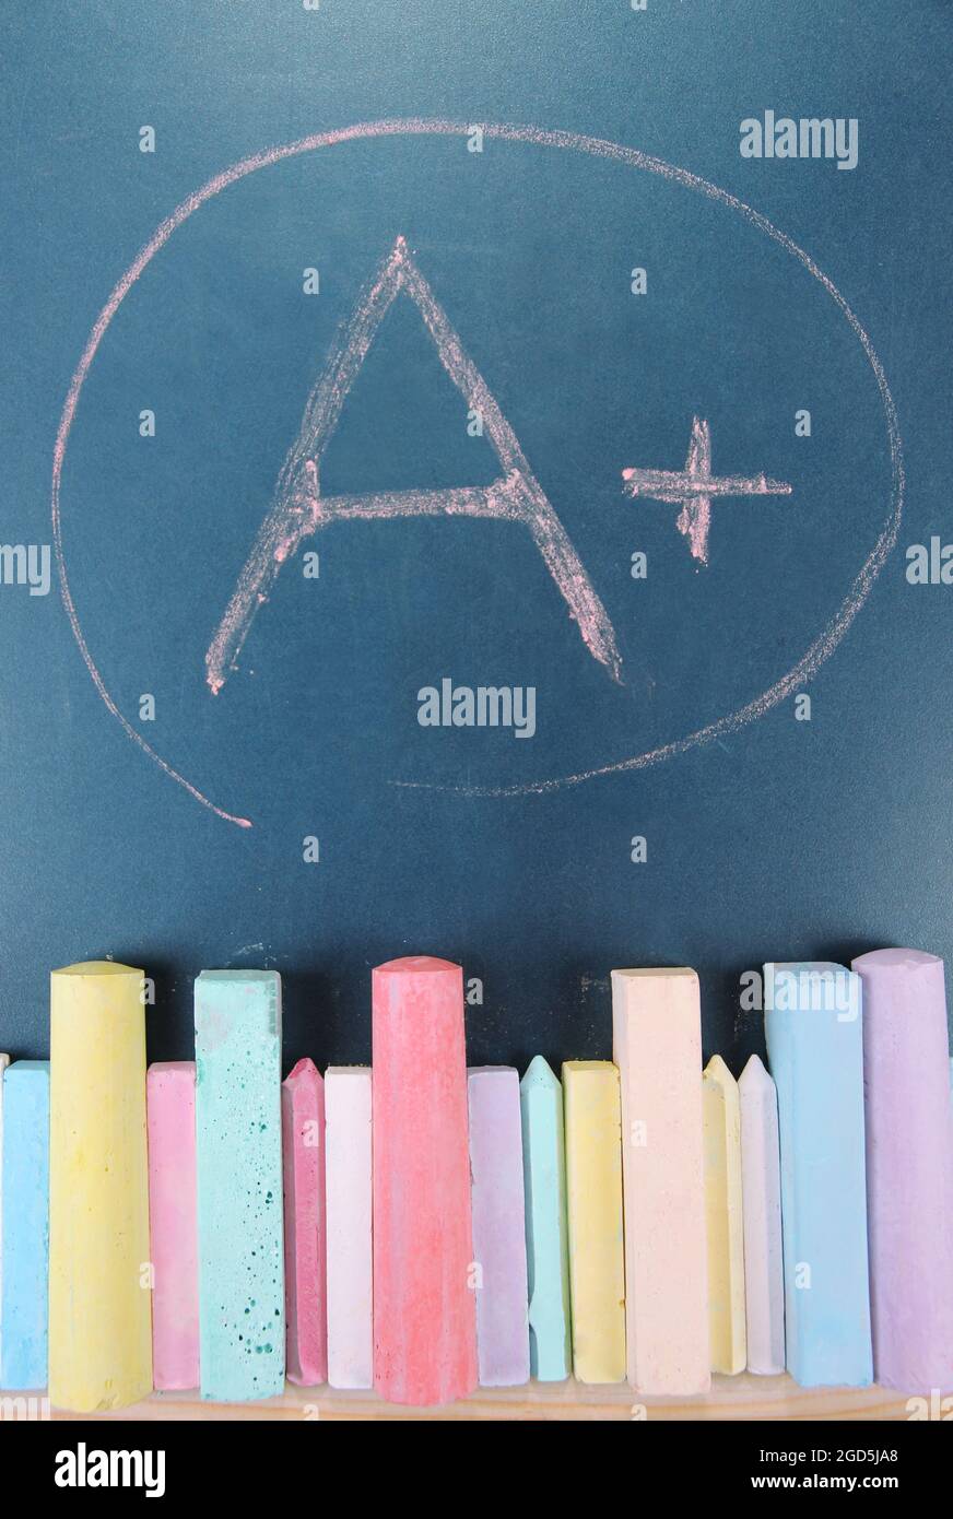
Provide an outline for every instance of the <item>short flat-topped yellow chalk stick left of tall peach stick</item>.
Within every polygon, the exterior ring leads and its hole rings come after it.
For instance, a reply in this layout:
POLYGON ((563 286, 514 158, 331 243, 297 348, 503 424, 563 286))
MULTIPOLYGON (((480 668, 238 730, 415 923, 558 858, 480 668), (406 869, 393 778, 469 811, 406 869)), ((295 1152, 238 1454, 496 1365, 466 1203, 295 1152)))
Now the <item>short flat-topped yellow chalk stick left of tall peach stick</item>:
POLYGON ((562 1094, 573 1373, 579 1382, 622 1382, 625 1255, 619 1071, 609 1060, 567 1060, 562 1094))

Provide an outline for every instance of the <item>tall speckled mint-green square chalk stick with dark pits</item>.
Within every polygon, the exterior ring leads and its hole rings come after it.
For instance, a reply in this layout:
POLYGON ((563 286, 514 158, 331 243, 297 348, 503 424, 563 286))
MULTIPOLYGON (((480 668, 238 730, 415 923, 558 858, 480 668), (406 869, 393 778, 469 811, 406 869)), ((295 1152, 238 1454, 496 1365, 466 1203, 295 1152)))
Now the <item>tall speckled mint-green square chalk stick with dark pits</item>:
POLYGON ((281 980, 202 971, 195 984, 202 1397, 284 1391, 281 980))

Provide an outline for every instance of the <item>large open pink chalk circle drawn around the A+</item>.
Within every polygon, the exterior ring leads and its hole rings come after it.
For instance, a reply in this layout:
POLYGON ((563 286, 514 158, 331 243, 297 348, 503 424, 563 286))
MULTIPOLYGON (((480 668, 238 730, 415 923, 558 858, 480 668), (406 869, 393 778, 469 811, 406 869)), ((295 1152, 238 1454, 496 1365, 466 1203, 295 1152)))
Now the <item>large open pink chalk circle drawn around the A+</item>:
MULTIPOLYGON (((76 416, 76 407, 79 404, 79 396, 85 384, 87 375, 93 365, 93 360, 99 351, 99 346, 112 322, 112 317, 119 311, 122 302, 129 295, 129 290, 146 269, 146 266, 155 258, 158 251, 164 248, 172 234, 188 220, 193 211, 211 201, 213 196, 226 190, 228 185, 236 184, 236 181, 243 179, 246 175, 254 173, 258 169, 268 169, 271 164, 283 163, 287 158, 296 158, 302 153, 316 152, 319 147, 334 147, 340 143, 351 143, 365 138, 382 138, 382 137, 470 137, 471 126, 462 122, 445 122, 445 120, 426 120, 426 118, 407 118, 407 120, 388 120, 388 122, 359 122, 353 126, 337 128, 330 132, 316 132, 310 137, 302 137, 295 143, 284 143, 278 147, 264 149, 261 153, 252 153, 249 158, 243 158, 240 163, 233 164, 230 169, 222 170, 222 173, 214 175, 207 181, 199 190, 195 190, 187 196, 181 205, 166 217, 164 222, 155 229, 149 242, 135 255, 126 272, 120 276, 114 286, 106 304, 96 317, 93 330, 87 339, 85 348, 70 380, 70 387, 67 390, 67 398, 62 407, 62 415, 59 418, 59 427, 56 430, 56 442, 53 447, 53 477, 52 477, 52 498, 50 510, 53 519, 53 545, 56 553, 56 568, 59 574, 59 589, 62 595, 64 606, 67 609, 67 617, 70 618, 70 626, 73 629, 73 636, 79 646, 79 652, 84 658, 84 664, 90 673, 100 699, 103 700, 108 711, 120 723, 123 732, 128 738, 135 743, 149 760, 154 761, 163 770, 169 779, 178 782, 184 787, 188 794, 201 802, 202 807, 210 808, 225 822, 236 823, 240 828, 251 828, 251 820, 246 817, 239 817, 234 813, 216 805, 210 797, 207 797, 196 785, 192 784, 184 775, 179 775, 161 755, 143 738, 137 728, 129 722, 129 718, 120 711, 117 702, 106 688, 106 684, 93 659, 90 646, 87 644, 82 626, 79 623, 79 614, 76 611, 76 603, 73 602, 73 592, 70 589, 70 580, 67 574, 65 554, 62 548, 62 524, 61 524, 61 482, 62 482, 62 466, 65 460, 67 444, 70 441, 70 431, 76 416)), ((541 781, 521 782, 518 785, 508 787, 486 787, 486 785, 468 785, 468 787, 453 787, 441 785, 439 782, 420 782, 420 781, 397 781, 394 784, 403 787, 426 787, 427 790, 442 790, 456 791, 465 796, 526 796, 526 794, 544 794, 549 791, 558 791, 562 787, 579 785, 584 781, 591 781, 596 776, 617 775, 626 770, 646 770, 651 766, 661 764, 663 760, 672 760, 675 755, 685 753, 689 749, 695 749, 701 744, 711 743, 716 738, 722 738, 725 734, 737 732, 746 723, 755 722, 758 717, 765 717, 774 706, 784 702, 789 696, 798 691, 807 681, 810 681, 825 659, 834 652, 851 623, 854 621, 857 612, 871 594, 874 580, 880 574, 888 556, 897 544, 897 535, 900 532, 900 521, 903 516, 903 495, 904 495, 904 469, 903 469, 903 444, 900 437, 900 428, 897 422, 897 409, 894 406, 894 396, 891 395, 891 387, 886 381, 883 366, 874 345, 871 343, 866 331, 854 316, 851 307, 847 304, 837 287, 828 276, 818 267, 810 254, 804 252, 786 232, 781 232, 766 216, 755 211, 752 207, 746 205, 737 196, 730 194, 727 190, 720 190, 717 185, 711 184, 708 179, 702 179, 699 175, 690 173, 687 169, 678 169, 675 164, 666 163, 663 158, 655 158, 649 153, 640 152, 637 147, 623 147, 620 143, 609 143, 599 137, 582 137, 576 132, 559 132, 547 131, 544 128, 535 126, 511 126, 505 123, 486 123, 483 125, 483 137, 495 138, 508 143, 529 143, 535 147, 555 147, 568 149, 575 153, 587 153, 593 158, 603 158, 609 163, 623 164, 629 169, 640 169, 646 173, 658 175, 661 179, 667 179, 673 184, 682 185, 685 190, 693 190, 696 194, 705 196, 708 201, 714 201, 719 205, 727 207, 730 211, 737 213, 751 226, 757 228, 774 243, 783 248, 792 255, 813 279, 827 292, 831 298, 845 322, 851 328, 854 337, 860 343, 868 365, 874 372, 874 380, 877 381, 877 389, 880 392, 880 401, 883 406, 888 445, 891 454, 891 486, 888 494, 888 510, 883 526, 877 535, 874 545, 869 548, 863 564, 857 570, 847 595, 841 602, 841 606, 834 615, 825 623, 821 632, 815 636, 807 650, 801 655, 796 664, 775 681, 774 685, 761 691, 751 702, 743 706, 736 708, 723 717, 716 718, 704 728, 695 732, 685 734, 682 738, 675 738, 667 744, 661 744, 655 749, 649 749, 644 753, 632 755, 628 760, 617 760, 605 766, 599 766, 591 770, 581 770, 573 775, 553 776, 541 781)))

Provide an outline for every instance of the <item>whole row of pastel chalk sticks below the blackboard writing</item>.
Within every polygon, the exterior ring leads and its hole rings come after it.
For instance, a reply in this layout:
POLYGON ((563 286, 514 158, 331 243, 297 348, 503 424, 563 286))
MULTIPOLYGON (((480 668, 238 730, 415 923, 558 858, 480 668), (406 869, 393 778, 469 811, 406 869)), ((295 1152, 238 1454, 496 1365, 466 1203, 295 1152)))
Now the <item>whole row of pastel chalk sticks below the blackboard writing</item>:
POLYGON ((50 1060, 0 1057, 0 1385, 953 1388, 942 960, 751 984, 771 1074, 702 1071, 698 977, 661 968, 613 972, 611 1062, 520 1080, 467 1069, 461 966, 392 960, 372 1068, 281 1082, 275 972, 204 971, 195 1062, 146 1068, 143 972, 55 971, 50 1060))

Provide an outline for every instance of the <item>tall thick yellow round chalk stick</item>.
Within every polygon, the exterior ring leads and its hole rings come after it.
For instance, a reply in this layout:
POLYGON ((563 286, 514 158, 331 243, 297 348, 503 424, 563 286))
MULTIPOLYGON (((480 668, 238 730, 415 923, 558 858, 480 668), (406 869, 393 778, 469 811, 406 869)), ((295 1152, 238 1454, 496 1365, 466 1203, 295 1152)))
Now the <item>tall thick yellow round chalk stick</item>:
POLYGON ((50 1402, 152 1391, 143 972, 50 977, 50 1402))

